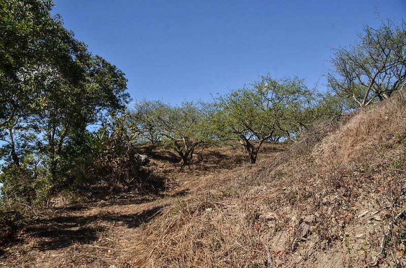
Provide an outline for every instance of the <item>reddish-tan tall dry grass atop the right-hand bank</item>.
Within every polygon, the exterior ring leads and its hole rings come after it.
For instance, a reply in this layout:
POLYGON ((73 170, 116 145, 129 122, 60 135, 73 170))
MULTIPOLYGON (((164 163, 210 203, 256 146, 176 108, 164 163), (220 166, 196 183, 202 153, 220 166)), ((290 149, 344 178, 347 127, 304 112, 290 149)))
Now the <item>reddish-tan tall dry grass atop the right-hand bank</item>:
POLYGON ((319 158, 323 161, 371 163, 371 158, 402 153, 406 142, 406 100, 399 93, 392 99, 355 114, 324 141, 319 158))

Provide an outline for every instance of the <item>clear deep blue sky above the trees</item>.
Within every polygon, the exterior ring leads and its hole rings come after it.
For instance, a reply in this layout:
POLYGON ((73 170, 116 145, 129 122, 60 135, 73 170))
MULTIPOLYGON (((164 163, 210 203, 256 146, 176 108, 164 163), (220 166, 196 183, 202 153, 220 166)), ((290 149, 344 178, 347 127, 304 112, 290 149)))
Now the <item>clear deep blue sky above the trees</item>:
POLYGON ((67 29, 125 72, 133 99, 180 103, 257 79, 297 75, 313 87, 331 48, 363 25, 399 22, 405 0, 54 0, 67 29))

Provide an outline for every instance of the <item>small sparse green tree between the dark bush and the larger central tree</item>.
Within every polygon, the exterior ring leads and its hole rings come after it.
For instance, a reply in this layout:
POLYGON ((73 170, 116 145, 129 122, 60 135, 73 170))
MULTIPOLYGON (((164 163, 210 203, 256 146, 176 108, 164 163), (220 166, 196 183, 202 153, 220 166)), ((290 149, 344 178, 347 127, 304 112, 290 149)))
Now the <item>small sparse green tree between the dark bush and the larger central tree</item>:
POLYGON ((184 102, 171 106, 161 101, 134 103, 129 118, 134 131, 139 131, 141 142, 174 149, 182 165, 190 164, 193 155, 210 146, 213 140, 210 125, 211 105, 184 102))

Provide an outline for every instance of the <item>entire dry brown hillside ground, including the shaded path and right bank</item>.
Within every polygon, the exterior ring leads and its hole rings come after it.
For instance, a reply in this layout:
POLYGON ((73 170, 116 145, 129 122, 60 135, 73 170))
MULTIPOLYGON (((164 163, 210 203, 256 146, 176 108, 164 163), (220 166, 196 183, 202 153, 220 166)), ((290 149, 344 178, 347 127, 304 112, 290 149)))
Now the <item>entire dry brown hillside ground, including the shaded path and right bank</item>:
POLYGON ((256 164, 239 144, 164 175, 157 195, 93 197, 41 212, 5 267, 405 267, 406 100, 315 125, 256 164))

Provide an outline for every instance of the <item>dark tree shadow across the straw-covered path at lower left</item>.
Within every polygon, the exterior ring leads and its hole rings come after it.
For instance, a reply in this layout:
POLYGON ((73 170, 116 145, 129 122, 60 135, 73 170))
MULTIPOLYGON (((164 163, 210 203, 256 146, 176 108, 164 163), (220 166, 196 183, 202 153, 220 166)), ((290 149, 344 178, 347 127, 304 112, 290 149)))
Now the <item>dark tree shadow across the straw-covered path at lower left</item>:
POLYGON ((98 234, 107 229, 106 225, 100 225, 100 221, 115 224, 122 222, 127 228, 137 228, 160 215, 161 209, 161 206, 157 206, 140 213, 99 213, 92 216, 58 215, 38 220, 25 232, 30 237, 39 239, 38 248, 40 250, 62 249, 74 243, 90 244, 97 241, 98 234))

